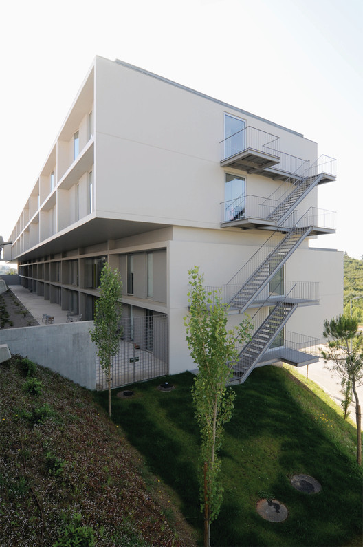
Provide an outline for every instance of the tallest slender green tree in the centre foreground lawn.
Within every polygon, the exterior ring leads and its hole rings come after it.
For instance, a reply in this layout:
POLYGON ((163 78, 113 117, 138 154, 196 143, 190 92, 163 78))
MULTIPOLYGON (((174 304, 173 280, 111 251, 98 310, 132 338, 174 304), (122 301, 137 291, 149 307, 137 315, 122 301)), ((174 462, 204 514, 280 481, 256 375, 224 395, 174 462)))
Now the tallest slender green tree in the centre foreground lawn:
POLYGON ((192 399, 201 433, 201 510, 204 513, 204 545, 209 547, 210 523, 217 518, 223 497, 219 480, 221 462, 217 453, 236 396, 226 384, 238 360, 237 344, 241 345, 250 338, 251 325, 245 319, 239 327, 227 330, 228 306, 222 303, 217 291, 206 292, 199 268, 195 267, 188 273, 190 312, 184 323, 190 355, 199 368, 192 387, 192 399))

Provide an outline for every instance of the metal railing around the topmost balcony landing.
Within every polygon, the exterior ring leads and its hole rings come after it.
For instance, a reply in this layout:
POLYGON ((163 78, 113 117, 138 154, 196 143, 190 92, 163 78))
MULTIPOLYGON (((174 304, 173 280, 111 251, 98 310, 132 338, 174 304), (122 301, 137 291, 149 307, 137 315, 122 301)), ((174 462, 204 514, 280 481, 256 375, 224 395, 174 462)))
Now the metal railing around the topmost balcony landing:
POLYGON ((232 158, 232 156, 247 149, 263 152, 276 157, 279 155, 280 137, 249 125, 248 127, 241 129, 241 131, 237 131, 233 135, 225 138, 220 144, 221 161, 232 158))

